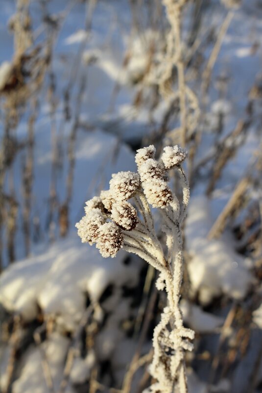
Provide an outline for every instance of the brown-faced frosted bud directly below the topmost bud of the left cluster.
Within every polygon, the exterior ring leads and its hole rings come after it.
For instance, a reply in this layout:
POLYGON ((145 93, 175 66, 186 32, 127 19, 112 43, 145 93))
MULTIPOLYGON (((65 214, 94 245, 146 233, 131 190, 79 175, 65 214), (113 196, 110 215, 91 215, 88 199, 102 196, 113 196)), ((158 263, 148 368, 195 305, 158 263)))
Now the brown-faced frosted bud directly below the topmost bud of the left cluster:
POLYGON ((111 218, 126 231, 132 231, 138 223, 137 210, 130 203, 124 201, 113 205, 111 218))

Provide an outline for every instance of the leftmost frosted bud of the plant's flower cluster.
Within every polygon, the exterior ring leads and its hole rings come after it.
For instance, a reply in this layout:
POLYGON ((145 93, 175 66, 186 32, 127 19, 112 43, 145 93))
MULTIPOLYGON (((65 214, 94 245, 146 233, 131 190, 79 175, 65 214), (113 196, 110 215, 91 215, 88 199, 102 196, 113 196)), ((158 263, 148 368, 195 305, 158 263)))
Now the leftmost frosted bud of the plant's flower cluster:
POLYGON ((77 234, 81 237, 82 243, 93 244, 98 236, 98 230, 105 222, 100 209, 90 210, 79 222, 75 224, 78 229, 77 234))

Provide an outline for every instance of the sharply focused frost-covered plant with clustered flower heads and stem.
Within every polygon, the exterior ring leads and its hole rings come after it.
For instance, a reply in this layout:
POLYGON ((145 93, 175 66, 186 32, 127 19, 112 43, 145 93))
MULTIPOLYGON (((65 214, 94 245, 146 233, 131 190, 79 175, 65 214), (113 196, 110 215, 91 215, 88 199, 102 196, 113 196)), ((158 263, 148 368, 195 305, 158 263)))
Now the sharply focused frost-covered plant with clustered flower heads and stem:
POLYGON ((120 249, 143 258, 159 271, 156 286, 166 289, 165 307, 153 335, 154 357, 150 373, 156 382, 150 392, 187 392, 184 351, 192 350, 194 332, 183 326, 179 307, 183 278, 181 224, 189 202, 189 184, 181 167, 184 149, 167 146, 159 161, 153 145, 139 149, 138 173, 112 176, 109 190, 86 202, 86 215, 76 224, 82 242, 96 243, 103 257, 115 257, 120 249), (167 170, 178 171, 183 187, 183 206, 168 185, 167 170), (130 202, 127 200, 131 199, 130 202), (163 217, 165 251, 156 234, 150 206, 163 217))

